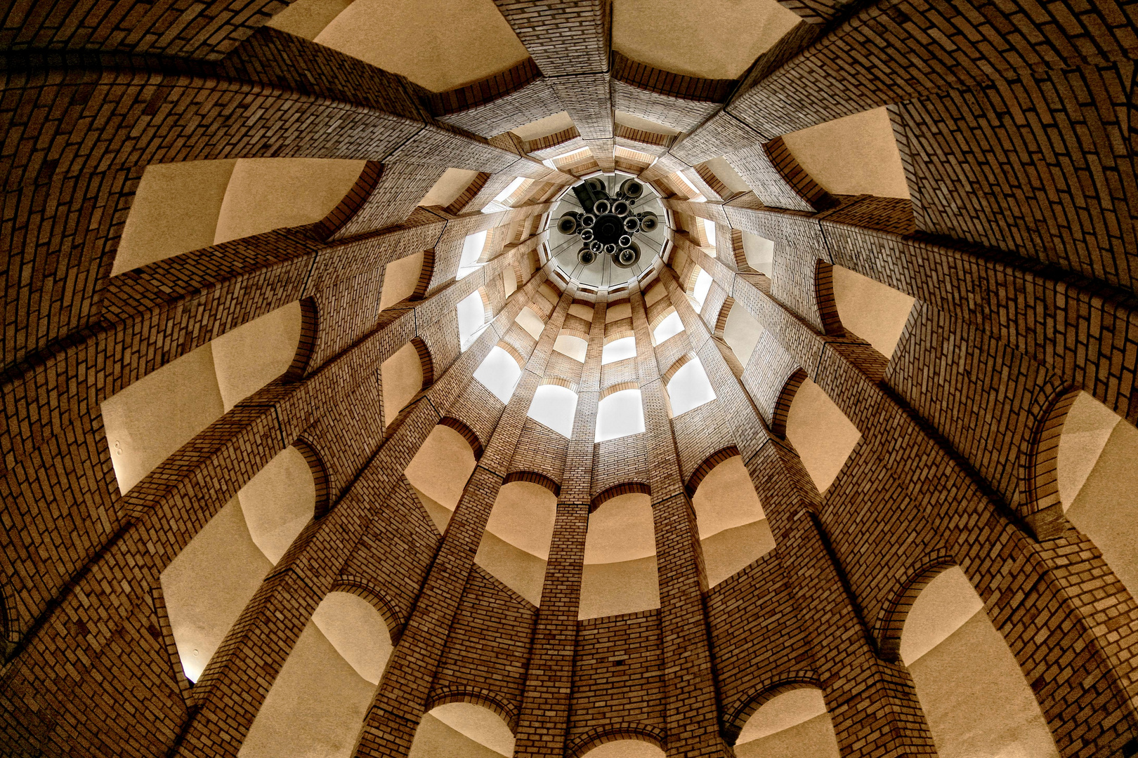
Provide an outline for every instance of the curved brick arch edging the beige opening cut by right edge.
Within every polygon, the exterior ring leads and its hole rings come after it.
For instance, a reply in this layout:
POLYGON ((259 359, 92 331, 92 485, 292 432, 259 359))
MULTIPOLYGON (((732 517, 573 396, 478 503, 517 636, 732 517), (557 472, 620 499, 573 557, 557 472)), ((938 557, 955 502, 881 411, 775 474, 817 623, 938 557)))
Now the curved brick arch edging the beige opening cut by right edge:
POLYGON ((1032 403, 1036 422, 1020 453, 1020 491, 1015 510, 1037 540, 1058 536, 1069 526, 1059 500, 1059 436, 1079 392, 1079 388, 1053 386, 1050 391, 1041 392, 1032 403))

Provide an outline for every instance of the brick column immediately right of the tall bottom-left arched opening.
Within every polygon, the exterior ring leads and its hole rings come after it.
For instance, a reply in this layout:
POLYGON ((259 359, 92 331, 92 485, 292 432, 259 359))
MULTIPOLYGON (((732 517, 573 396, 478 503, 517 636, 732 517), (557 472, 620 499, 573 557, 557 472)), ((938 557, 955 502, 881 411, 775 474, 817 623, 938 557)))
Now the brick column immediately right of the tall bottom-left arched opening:
MULTIPOLYGON (((541 297, 534 294, 534 297, 541 297)), ((391 652, 371 710, 364 719, 356 756, 406 756, 422 719, 435 672, 454 622, 486 522, 505 478, 518 438, 526 423, 571 298, 561 297, 545 324, 518 386, 494 427, 486 451, 475 467, 443 535, 438 555, 423 583, 399 643, 391 652)), ((509 324, 506 328, 520 328, 509 324)), ((504 333, 505 330, 503 330, 504 333)))

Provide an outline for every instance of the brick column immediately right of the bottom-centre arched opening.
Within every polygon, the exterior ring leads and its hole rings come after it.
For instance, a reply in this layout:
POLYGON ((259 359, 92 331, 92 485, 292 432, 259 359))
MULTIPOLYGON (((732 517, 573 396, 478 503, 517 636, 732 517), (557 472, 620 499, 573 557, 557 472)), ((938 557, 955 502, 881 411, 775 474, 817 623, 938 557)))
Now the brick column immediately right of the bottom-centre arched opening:
POLYGON ((637 289, 630 299, 655 524, 667 752, 685 757, 729 756, 731 750, 719 734, 715 666, 703 613, 707 576, 695 510, 679 472, 644 295, 637 289))

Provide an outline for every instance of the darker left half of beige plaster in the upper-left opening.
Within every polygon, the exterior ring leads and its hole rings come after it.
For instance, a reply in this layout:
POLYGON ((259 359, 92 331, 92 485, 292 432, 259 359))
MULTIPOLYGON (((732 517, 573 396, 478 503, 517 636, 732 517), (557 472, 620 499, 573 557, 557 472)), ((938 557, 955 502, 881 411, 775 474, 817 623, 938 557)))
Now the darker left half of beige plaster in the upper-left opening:
POLYGON ((236 160, 150 164, 142 173, 110 275, 208 248, 236 160))

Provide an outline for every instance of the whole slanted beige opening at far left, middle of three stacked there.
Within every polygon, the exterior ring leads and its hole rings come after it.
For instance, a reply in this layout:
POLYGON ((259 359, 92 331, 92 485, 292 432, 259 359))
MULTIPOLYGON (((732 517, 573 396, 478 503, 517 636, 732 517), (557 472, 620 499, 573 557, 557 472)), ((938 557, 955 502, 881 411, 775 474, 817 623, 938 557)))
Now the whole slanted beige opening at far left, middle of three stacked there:
POLYGON ((123 494, 297 357, 299 302, 247 322, 123 388, 100 405, 123 494))

